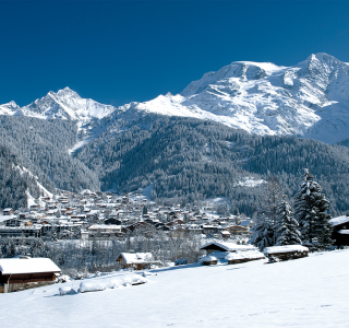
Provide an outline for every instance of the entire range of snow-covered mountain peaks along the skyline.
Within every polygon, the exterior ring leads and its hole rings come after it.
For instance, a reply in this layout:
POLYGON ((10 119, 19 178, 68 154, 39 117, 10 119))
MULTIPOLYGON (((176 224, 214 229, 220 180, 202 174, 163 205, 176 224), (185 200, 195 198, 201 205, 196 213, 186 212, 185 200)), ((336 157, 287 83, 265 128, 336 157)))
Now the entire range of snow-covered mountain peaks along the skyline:
POLYGON ((152 114, 334 143, 349 138, 349 65, 326 54, 311 55, 293 67, 236 61, 191 82, 181 94, 149 102, 116 108, 81 98, 65 87, 22 108, 14 102, 1 105, 1 114, 77 120, 86 142, 116 120, 130 126, 152 114))

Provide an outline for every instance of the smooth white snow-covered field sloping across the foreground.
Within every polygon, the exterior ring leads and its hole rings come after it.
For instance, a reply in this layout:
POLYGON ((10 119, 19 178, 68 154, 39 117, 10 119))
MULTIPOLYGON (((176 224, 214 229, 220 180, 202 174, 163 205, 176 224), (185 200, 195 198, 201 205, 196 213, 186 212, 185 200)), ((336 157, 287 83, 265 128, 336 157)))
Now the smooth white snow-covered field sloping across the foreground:
POLYGON ((74 281, 1 294, 1 327, 349 327, 348 259, 336 250, 273 265, 189 265, 100 292, 59 296, 60 286, 76 291, 74 281))

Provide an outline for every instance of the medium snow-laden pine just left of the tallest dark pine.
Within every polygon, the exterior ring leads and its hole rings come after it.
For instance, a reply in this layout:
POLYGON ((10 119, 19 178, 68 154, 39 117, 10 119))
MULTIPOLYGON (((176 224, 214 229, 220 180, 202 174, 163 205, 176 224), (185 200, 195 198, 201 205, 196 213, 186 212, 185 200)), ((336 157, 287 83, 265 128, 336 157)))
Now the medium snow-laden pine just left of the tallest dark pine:
POLYGON ((285 196, 282 200, 279 202, 277 208, 277 216, 276 216, 276 245, 300 245, 301 233, 298 230, 298 222, 292 216, 292 210, 289 203, 285 200, 285 196))

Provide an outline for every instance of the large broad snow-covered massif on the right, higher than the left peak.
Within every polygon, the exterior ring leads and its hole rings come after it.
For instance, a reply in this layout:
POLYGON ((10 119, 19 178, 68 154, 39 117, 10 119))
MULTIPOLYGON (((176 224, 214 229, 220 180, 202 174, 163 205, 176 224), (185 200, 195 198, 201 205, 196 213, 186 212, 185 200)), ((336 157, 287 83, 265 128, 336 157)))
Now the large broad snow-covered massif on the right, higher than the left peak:
POLYGON ((349 137, 349 65, 326 54, 293 67, 236 61, 137 109, 212 119, 256 134, 349 137))

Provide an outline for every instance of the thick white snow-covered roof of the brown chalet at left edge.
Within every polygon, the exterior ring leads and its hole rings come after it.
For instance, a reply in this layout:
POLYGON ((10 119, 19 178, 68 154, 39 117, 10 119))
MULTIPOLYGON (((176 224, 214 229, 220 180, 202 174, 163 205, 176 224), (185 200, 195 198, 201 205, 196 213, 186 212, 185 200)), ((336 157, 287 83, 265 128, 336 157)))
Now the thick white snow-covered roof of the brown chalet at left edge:
POLYGON ((0 259, 2 274, 61 272, 49 258, 2 258, 0 259))

